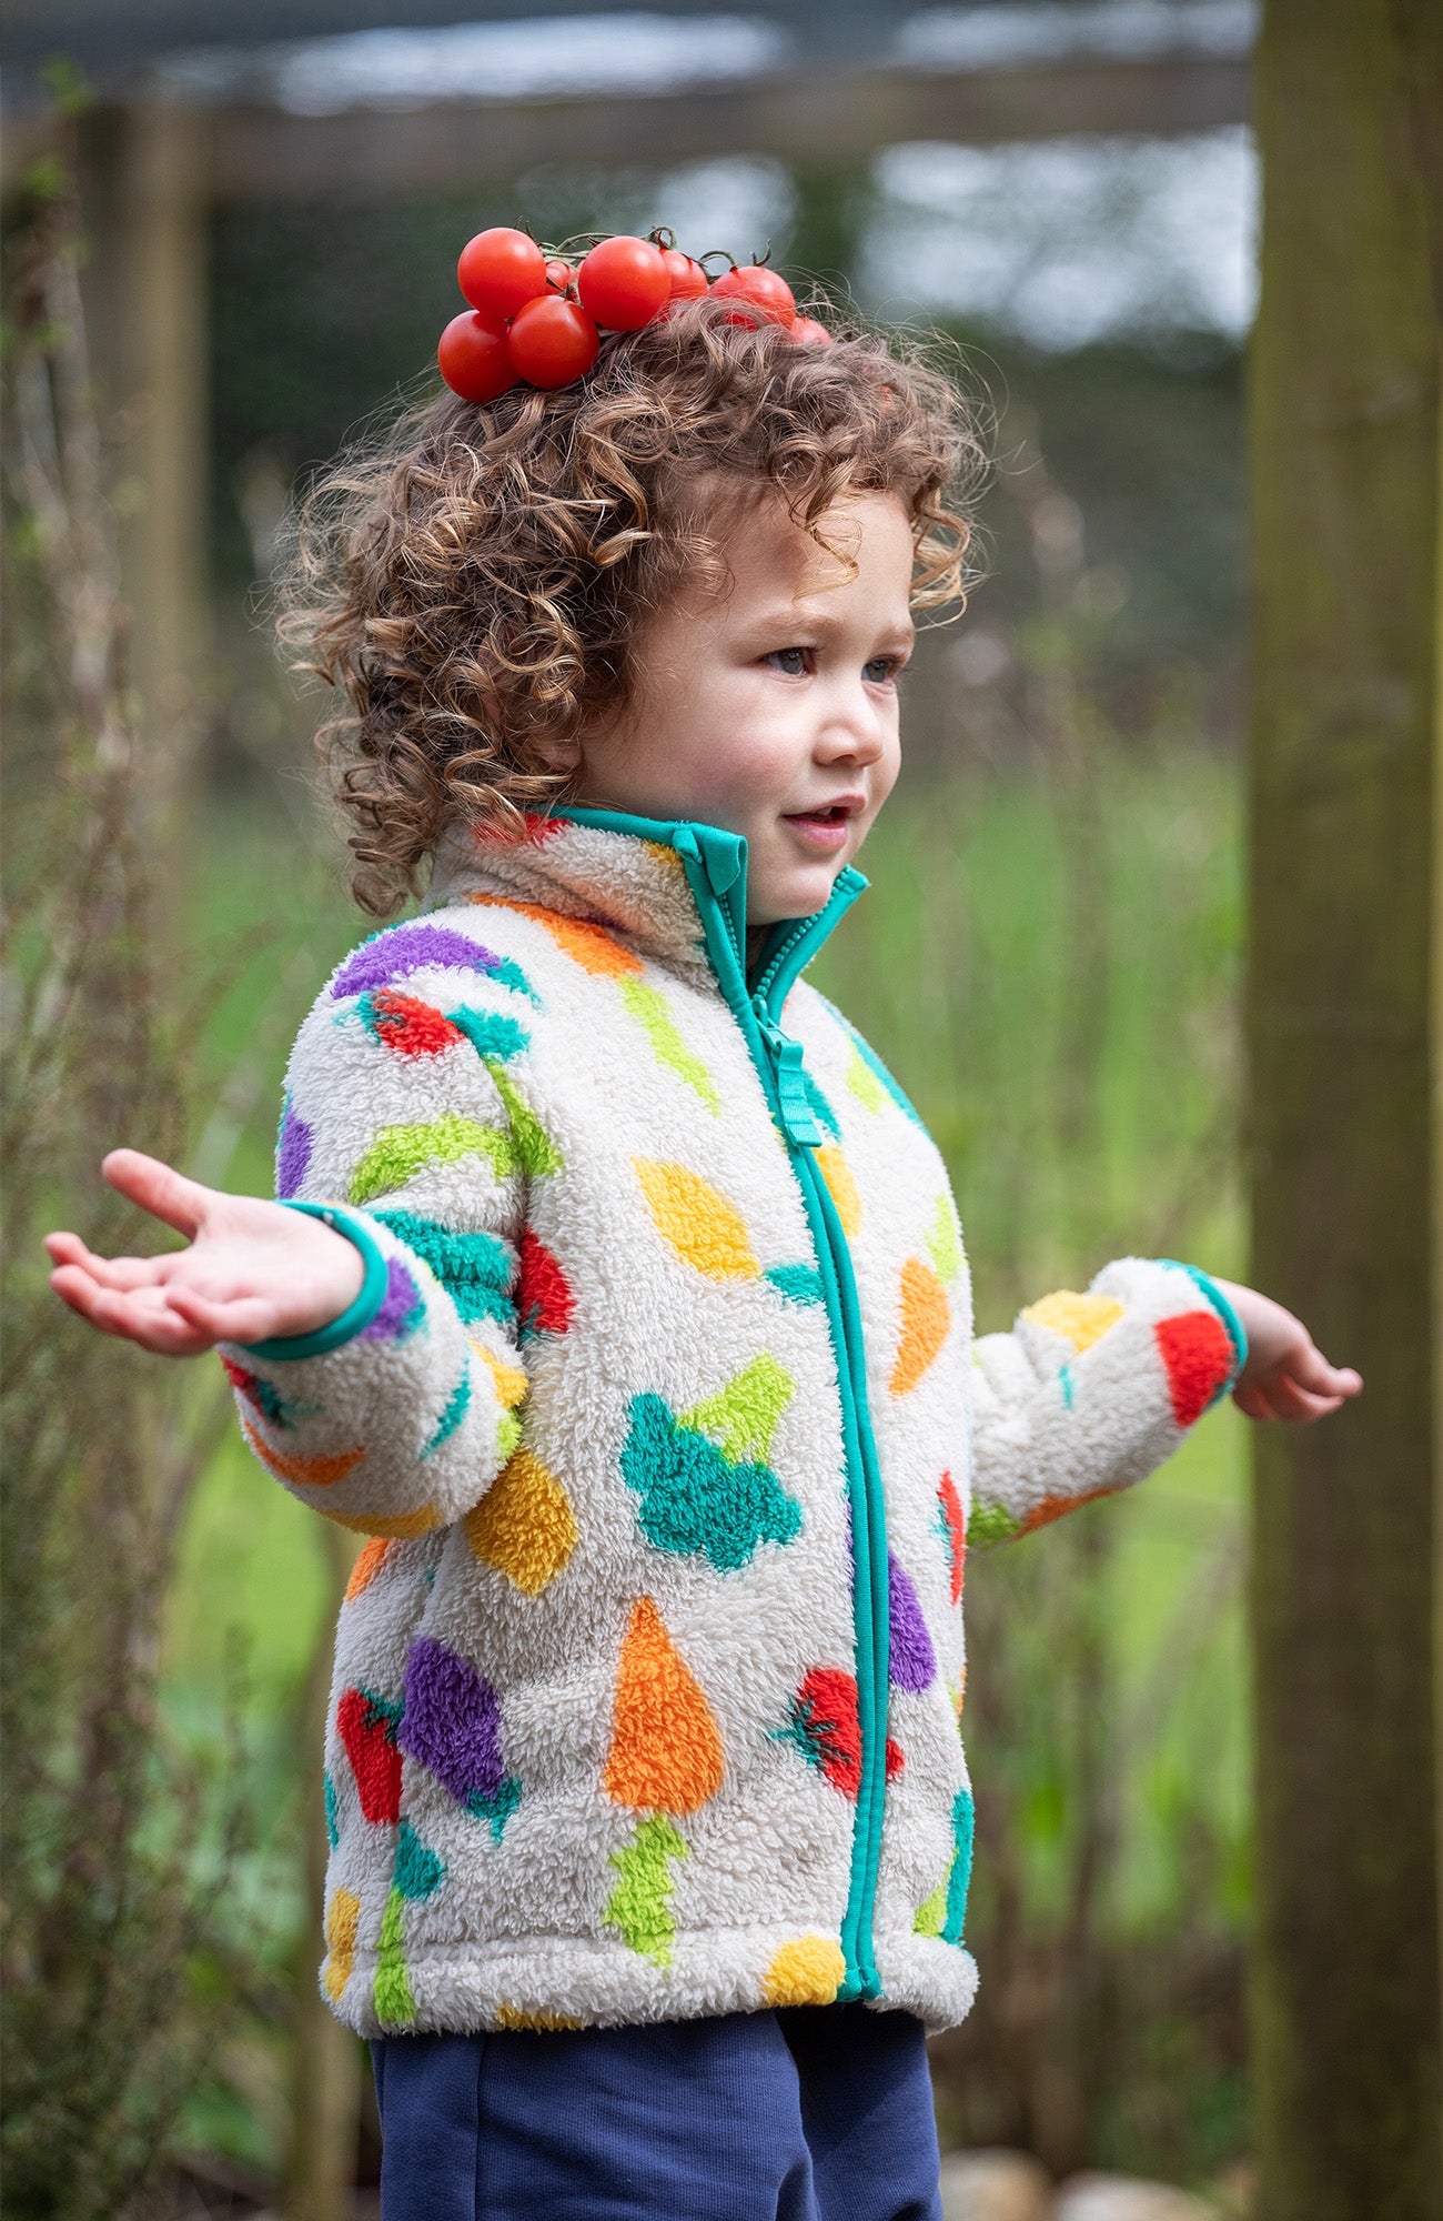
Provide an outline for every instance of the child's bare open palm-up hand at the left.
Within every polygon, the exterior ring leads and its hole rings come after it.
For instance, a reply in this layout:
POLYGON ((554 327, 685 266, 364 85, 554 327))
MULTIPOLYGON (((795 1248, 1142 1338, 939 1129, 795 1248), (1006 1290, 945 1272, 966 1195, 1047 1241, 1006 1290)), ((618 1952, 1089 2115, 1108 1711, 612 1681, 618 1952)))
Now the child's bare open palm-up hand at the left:
POLYGON ((138 1148, 113 1148, 100 1170, 191 1244, 162 1257, 95 1257, 80 1235, 44 1237, 51 1288, 107 1335, 198 1357, 218 1341, 311 1335, 360 1295, 360 1250, 324 1219, 202 1188, 138 1148))

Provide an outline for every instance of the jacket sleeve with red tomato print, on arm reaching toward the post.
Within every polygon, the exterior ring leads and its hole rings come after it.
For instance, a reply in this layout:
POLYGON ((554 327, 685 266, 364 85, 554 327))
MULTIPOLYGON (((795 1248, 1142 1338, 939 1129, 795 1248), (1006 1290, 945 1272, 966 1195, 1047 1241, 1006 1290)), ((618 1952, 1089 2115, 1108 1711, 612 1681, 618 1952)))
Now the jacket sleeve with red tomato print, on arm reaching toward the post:
POLYGON ((1006 1541, 1128 1488, 1177 1450, 1248 1355, 1194 1266, 1123 1257, 1086 1295, 1030 1304, 972 1350, 968 1544, 1006 1541))

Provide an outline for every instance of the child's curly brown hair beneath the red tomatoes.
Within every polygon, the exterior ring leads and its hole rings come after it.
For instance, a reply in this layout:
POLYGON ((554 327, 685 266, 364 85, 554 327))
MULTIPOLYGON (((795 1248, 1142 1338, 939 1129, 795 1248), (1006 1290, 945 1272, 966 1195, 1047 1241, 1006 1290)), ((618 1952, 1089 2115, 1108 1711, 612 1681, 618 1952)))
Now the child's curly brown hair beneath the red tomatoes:
POLYGON ((779 495, 828 546, 839 498, 892 493, 915 606, 961 609, 972 535, 955 504, 983 451, 957 382, 875 335, 799 346, 735 313, 699 300, 615 333, 557 393, 411 409, 311 484, 280 635, 344 700, 317 751, 371 915, 417 893, 457 815, 519 833, 564 797, 557 753, 626 702, 648 611, 726 586, 737 500, 779 495))

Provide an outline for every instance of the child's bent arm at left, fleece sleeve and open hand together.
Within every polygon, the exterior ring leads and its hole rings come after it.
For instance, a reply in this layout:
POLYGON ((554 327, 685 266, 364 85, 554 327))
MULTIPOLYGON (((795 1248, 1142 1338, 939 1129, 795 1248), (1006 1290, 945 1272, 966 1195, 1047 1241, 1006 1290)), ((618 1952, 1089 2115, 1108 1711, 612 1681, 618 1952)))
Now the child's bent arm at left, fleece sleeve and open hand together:
POLYGON ((107 1179, 191 1244, 107 1262, 51 1235, 51 1279, 147 1348, 218 1346, 242 1430, 286 1488, 357 1532, 420 1535, 480 1501, 519 1433, 519 1097, 457 1028, 402 1062, 324 997, 291 1088, 291 1202, 113 1150, 107 1179))

